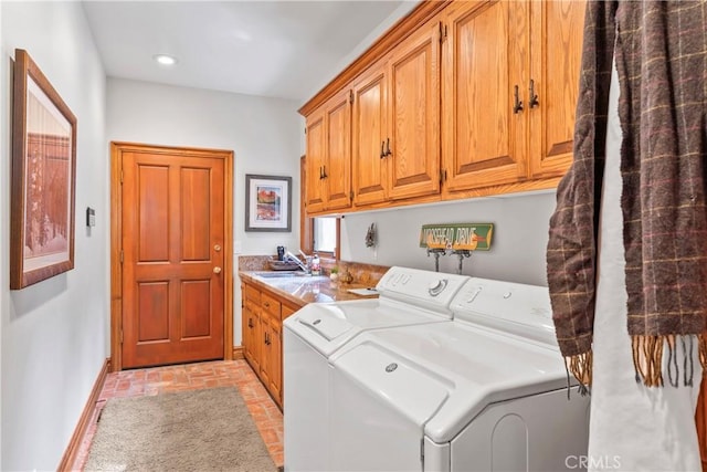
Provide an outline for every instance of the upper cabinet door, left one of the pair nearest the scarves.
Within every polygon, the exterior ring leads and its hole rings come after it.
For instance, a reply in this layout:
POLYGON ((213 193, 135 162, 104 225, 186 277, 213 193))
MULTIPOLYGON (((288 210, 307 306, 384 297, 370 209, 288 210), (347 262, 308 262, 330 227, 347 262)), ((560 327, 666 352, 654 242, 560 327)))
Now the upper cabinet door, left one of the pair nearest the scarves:
POLYGON ((442 111, 446 190, 509 183, 526 175, 525 111, 514 106, 516 87, 527 82, 527 3, 461 1, 447 8, 442 111))

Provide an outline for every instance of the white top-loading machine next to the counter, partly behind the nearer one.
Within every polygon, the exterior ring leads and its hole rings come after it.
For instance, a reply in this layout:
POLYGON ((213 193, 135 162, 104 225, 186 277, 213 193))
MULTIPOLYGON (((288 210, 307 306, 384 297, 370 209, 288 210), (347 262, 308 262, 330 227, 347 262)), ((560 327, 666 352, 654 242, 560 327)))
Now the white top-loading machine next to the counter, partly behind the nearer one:
POLYGON ((309 304, 285 319, 285 470, 327 471, 329 357, 363 332, 451 323, 450 304, 468 276, 391 268, 377 300, 309 304))

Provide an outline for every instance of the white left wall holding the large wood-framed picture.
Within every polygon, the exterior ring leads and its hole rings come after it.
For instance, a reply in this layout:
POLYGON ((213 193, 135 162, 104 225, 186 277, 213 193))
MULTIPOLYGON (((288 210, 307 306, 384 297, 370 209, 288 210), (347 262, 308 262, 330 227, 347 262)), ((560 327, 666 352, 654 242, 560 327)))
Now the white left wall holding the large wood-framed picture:
POLYGON ((55 470, 108 353, 105 73, 78 2, 2 2, 0 331, 2 470, 55 470), (77 118, 75 269, 10 291, 9 88, 27 50, 77 118), (97 225, 84 225, 87 206, 97 225))

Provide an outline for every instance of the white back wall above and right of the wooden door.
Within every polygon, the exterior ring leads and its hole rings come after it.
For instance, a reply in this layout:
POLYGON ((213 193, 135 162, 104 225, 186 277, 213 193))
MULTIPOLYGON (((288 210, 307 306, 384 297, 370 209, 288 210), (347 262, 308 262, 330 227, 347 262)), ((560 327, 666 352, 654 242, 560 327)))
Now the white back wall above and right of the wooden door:
MULTIPOLYGON (((297 252, 304 122, 296 102, 108 78, 107 108, 108 140, 233 150, 235 252, 239 245, 242 254, 274 254, 277 245, 297 252), (245 232, 246 174, 293 178, 292 232, 245 232)), ((241 294, 234 281, 233 343, 238 346, 241 294)))

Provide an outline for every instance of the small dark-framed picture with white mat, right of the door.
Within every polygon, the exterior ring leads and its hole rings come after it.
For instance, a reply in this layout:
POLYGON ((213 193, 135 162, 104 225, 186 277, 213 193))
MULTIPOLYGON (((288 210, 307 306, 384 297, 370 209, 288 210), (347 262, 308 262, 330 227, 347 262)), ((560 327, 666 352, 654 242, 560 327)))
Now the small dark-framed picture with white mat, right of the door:
POLYGON ((292 231, 292 177, 245 176, 245 231, 292 231))

